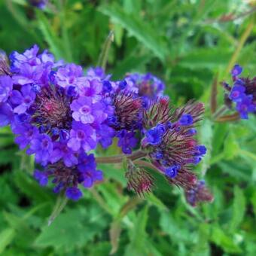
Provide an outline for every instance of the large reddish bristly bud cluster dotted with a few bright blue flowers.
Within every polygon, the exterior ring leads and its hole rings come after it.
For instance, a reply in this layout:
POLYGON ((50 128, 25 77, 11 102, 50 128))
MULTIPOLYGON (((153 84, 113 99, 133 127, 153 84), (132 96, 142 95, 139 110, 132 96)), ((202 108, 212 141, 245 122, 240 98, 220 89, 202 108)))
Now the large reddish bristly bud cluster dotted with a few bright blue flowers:
POLYGON ((203 104, 197 102, 188 102, 182 108, 169 108, 165 98, 157 99, 144 111, 142 147, 167 180, 184 189, 197 183, 190 169, 206 154, 206 147, 198 145, 194 138, 195 125, 201 120, 203 111, 203 104))

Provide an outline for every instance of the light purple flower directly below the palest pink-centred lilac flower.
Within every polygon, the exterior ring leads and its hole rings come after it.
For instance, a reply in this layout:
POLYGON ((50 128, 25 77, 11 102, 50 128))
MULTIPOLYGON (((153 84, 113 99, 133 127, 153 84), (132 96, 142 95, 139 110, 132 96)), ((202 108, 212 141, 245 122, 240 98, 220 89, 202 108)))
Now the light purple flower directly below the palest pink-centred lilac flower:
POLYGON ((74 151, 83 148, 86 152, 96 148, 96 133, 93 127, 89 124, 73 122, 68 146, 74 151))

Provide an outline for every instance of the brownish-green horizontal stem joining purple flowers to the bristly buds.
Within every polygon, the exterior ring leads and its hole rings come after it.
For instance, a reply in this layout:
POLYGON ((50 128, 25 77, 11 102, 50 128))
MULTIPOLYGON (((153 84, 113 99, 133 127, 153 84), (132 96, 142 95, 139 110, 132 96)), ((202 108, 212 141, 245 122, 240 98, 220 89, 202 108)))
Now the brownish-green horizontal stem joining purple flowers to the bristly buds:
POLYGON ((97 163, 122 163, 123 159, 126 157, 130 160, 137 160, 139 158, 145 157, 147 153, 143 151, 135 151, 133 154, 126 156, 124 154, 119 154, 111 157, 96 157, 97 163))

